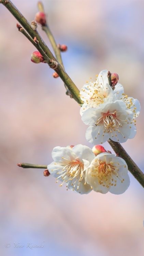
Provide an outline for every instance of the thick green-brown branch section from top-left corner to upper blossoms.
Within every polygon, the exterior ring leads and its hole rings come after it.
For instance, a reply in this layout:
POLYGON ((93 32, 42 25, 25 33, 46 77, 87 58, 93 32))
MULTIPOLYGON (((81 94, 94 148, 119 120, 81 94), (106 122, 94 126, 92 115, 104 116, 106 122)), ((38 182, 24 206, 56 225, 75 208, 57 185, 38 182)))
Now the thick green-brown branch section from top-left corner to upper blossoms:
MULTIPOLYGON (((34 37, 37 38, 39 41, 40 47, 43 49, 45 54, 48 56, 49 59, 52 59, 54 61, 57 61, 47 45, 44 43, 42 38, 40 37, 37 30, 32 30, 30 24, 28 23, 27 19, 18 11, 18 9, 15 7, 15 5, 10 0, 0 0, 0 3, 2 3, 12 14, 13 16, 20 22, 20 24, 24 27, 24 29, 28 32, 28 34, 31 36, 31 38, 34 39, 34 37)), ((35 45, 36 46, 36 45, 35 45)), ((44 56, 43 56, 44 57, 44 56)), ((76 87, 76 85, 73 83, 73 81, 70 79, 68 74, 63 70, 61 65, 58 65, 58 68, 55 70, 58 75, 60 76, 61 80, 66 84, 68 89, 70 90, 73 98, 78 102, 78 104, 82 105, 82 101, 79 97, 79 90, 76 87)))

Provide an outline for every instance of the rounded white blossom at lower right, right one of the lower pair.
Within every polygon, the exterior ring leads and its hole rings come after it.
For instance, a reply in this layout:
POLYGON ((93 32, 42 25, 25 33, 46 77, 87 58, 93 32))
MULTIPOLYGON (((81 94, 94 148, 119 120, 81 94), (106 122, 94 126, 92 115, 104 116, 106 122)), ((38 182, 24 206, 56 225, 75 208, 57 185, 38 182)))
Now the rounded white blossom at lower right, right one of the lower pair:
POLYGON ((122 194, 130 184, 127 164, 123 158, 100 153, 87 168, 86 182, 96 192, 122 194))

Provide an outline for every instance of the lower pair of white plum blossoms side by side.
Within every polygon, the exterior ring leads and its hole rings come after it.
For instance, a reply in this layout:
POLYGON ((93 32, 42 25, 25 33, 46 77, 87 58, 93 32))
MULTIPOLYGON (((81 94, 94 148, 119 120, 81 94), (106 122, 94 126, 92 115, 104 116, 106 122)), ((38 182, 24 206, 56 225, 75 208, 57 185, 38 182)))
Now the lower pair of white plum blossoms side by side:
POLYGON ((72 148, 55 147, 52 157, 54 162, 47 166, 48 171, 61 181, 60 186, 65 183, 67 190, 122 194, 129 187, 126 162, 110 153, 95 156, 89 147, 79 144, 72 148))

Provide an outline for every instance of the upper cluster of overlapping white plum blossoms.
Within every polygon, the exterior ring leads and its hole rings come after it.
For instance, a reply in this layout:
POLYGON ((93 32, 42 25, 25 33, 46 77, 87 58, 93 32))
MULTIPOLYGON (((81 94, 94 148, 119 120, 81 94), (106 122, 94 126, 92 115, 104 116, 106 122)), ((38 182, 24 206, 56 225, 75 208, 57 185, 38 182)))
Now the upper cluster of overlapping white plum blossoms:
POLYGON ((126 142, 136 134, 135 118, 140 113, 137 99, 124 94, 124 88, 117 83, 113 90, 108 82, 107 70, 102 70, 95 82, 87 83, 80 91, 84 104, 80 114, 86 125, 86 139, 99 144, 109 138, 126 142))

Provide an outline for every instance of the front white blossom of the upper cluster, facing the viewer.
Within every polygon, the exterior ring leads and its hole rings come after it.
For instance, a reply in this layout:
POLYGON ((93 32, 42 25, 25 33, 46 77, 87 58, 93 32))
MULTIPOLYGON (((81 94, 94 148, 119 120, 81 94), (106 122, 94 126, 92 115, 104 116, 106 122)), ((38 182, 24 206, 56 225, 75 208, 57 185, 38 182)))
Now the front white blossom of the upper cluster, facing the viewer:
POLYGON ((117 142, 126 142, 136 134, 133 113, 122 100, 90 108, 83 113, 82 120, 89 125, 86 139, 92 144, 104 143, 109 138, 117 142))

